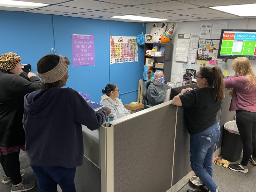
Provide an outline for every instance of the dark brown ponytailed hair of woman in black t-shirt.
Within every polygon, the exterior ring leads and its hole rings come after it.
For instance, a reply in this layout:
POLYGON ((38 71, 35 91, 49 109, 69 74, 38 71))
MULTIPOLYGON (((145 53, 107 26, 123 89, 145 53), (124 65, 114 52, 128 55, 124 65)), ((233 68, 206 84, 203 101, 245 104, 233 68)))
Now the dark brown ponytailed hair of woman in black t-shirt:
POLYGON ((225 98, 225 85, 221 68, 219 66, 203 67, 200 69, 200 74, 207 80, 209 87, 213 89, 213 98, 222 101, 225 98))

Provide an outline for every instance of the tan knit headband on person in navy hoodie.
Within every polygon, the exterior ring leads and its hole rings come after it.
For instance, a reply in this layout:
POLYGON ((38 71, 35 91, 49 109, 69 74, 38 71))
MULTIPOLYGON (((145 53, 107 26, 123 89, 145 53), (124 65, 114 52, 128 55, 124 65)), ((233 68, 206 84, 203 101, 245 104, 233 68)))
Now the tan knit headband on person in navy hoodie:
POLYGON ((37 72, 37 75, 41 78, 43 83, 54 83, 59 81, 67 73, 70 61, 68 60, 68 57, 63 57, 62 55, 59 56, 60 61, 56 67, 45 73, 37 72))

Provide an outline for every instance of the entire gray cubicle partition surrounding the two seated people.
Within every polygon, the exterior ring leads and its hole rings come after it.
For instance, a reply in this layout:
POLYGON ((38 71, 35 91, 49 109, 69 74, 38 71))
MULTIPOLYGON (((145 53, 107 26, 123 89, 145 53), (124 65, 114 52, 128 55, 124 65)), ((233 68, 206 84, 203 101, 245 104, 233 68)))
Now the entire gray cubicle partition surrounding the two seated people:
MULTIPOLYGON (((183 107, 172 101, 111 121, 83 127, 84 164, 77 167, 77 192, 177 192, 191 176, 189 134, 183 107)), ((220 127, 233 120, 226 94, 220 127)), ((221 139, 215 155, 220 154, 221 139)))

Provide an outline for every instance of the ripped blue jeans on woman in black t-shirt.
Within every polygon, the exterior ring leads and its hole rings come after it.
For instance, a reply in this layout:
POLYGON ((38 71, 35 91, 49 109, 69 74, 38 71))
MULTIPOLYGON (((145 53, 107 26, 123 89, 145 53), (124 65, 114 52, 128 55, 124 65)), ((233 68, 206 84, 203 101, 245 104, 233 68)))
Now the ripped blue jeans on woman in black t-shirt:
POLYGON ((212 180, 212 154, 219 138, 219 122, 203 132, 190 135, 191 168, 211 192, 218 188, 212 180))

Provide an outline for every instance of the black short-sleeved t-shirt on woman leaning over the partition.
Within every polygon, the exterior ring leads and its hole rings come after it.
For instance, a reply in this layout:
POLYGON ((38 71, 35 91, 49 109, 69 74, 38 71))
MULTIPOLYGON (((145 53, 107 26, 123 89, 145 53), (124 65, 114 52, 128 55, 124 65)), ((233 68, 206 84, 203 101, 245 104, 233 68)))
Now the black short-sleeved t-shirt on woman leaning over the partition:
POLYGON ((189 134, 203 132, 218 122, 221 102, 212 97, 211 88, 196 88, 180 96, 185 112, 185 124, 189 134))

